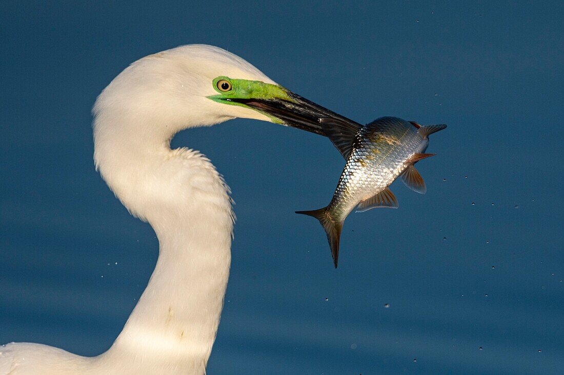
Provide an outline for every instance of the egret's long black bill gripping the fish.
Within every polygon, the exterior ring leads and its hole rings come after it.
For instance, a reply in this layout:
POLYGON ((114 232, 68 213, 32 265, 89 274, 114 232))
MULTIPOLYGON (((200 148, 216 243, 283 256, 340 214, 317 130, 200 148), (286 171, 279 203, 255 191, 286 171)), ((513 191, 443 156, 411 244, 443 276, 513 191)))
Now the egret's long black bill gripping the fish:
MULTIPOLYGON (((319 123, 321 118, 332 118, 358 124, 289 90, 287 91, 287 99, 226 98, 224 100, 243 104, 257 110, 270 117, 272 122, 323 136, 327 135, 319 123)), ((360 126, 360 124, 358 125, 360 126)))

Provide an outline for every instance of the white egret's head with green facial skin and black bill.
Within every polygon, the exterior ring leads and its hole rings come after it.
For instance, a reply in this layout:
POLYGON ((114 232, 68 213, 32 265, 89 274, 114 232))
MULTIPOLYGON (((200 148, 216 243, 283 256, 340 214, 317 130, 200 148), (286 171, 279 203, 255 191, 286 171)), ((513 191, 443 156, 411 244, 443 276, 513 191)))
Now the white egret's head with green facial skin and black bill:
POLYGON ((276 84, 239 56, 202 44, 173 48, 131 64, 96 101, 95 134, 98 123, 104 123, 101 117, 112 113, 121 118, 133 115, 135 132, 158 130, 167 137, 187 127, 236 117, 323 135, 319 118, 343 119, 276 84))

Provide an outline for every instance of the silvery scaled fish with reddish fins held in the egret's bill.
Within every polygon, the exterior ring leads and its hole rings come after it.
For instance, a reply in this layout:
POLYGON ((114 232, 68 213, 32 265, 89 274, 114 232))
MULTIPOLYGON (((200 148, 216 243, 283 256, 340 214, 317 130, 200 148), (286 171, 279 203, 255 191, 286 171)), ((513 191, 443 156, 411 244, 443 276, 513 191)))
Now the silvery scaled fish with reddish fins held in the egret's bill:
POLYGON ((389 188, 398 177, 410 189, 425 194, 425 182, 414 164, 436 155, 425 153, 429 135, 447 126, 421 126, 397 117, 381 117, 364 126, 333 118, 320 118, 319 122, 345 158, 345 168, 327 207, 296 213, 319 220, 337 268, 345 218, 355 208, 356 212, 377 207, 398 208, 398 200, 389 188))

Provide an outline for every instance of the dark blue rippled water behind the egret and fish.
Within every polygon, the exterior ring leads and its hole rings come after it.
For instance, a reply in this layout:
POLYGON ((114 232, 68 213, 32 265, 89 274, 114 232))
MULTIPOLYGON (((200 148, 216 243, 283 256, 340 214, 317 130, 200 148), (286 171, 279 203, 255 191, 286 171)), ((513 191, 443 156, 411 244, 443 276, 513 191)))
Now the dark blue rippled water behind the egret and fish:
POLYGON ((236 202, 210 374, 564 373, 564 6, 388 3, 2 1, 0 342, 111 345, 157 240, 94 171, 90 109, 132 61, 207 43, 359 122, 448 124, 428 193, 352 214, 337 270, 293 213, 329 202, 331 142, 244 119, 174 139, 236 202))

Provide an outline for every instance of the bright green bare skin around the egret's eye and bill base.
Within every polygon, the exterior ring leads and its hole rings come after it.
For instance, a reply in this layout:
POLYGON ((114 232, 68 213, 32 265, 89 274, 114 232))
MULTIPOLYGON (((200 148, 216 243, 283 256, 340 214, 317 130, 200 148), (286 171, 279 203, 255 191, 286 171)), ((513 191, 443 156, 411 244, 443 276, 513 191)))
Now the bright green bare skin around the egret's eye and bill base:
POLYGON ((282 121, 269 115, 261 110, 252 108, 244 103, 230 101, 228 99, 257 99, 257 100, 285 100, 289 102, 295 102, 292 97, 288 95, 288 91, 281 86, 276 84, 265 83, 262 81, 249 81, 248 79, 233 79, 229 77, 219 76, 215 78, 212 82, 215 91, 219 92, 218 95, 208 96, 209 99, 217 101, 218 103, 239 105, 245 108, 250 108, 261 112, 272 122, 281 124, 282 121), (221 91, 217 87, 219 81, 225 80, 231 83, 231 90, 221 91))

